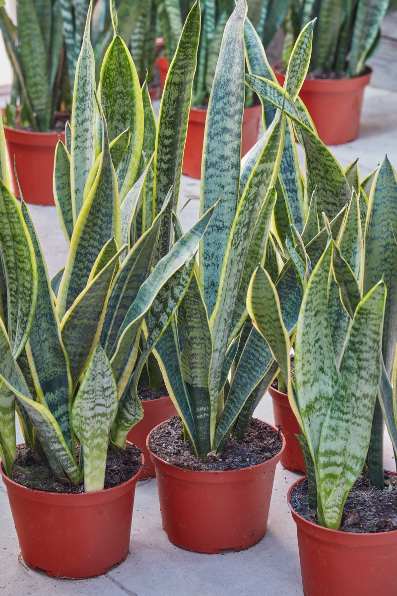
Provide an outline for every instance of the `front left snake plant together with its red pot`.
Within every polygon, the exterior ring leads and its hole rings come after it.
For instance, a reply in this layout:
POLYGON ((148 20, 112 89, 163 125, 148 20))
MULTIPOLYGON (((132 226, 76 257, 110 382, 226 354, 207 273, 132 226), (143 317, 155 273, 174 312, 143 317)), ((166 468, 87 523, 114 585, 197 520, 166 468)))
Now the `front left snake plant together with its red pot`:
POLYGON ((138 198, 149 170, 134 184, 145 143, 142 96, 139 86, 135 93, 135 67, 115 30, 98 100, 90 15, 91 5, 70 136, 66 145, 58 142, 55 156, 54 191, 70 252, 52 280, 29 210, 7 188, 0 136, 1 475, 24 561, 49 575, 76 578, 104 573, 128 554, 143 461, 139 449, 126 446, 126 437, 143 408, 127 384, 143 321, 149 336, 140 365, 182 300, 196 244, 213 212, 154 262, 170 193, 148 229, 136 234, 138 198), (111 70, 123 85, 107 76, 116 59, 118 68, 111 70), (109 142, 108 131, 117 134, 115 123, 129 122, 120 89, 135 98, 138 117, 109 142), (126 180, 132 185, 122 200, 126 180), (25 441, 18 447, 15 410, 25 441), (76 526, 82 530, 77 542, 76 526))

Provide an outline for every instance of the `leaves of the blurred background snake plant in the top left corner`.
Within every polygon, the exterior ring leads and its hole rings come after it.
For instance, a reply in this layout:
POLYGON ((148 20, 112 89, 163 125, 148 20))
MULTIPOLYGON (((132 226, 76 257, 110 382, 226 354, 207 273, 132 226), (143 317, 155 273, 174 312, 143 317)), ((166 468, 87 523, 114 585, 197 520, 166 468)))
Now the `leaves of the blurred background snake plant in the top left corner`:
POLYGON ((15 126, 19 96, 21 123, 33 126, 35 131, 48 131, 54 122, 54 111, 62 99, 61 2, 45 0, 35 4, 33 0, 18 0, 17 26, 1 7, 0 29, 14 69, 5 123, 15 126))

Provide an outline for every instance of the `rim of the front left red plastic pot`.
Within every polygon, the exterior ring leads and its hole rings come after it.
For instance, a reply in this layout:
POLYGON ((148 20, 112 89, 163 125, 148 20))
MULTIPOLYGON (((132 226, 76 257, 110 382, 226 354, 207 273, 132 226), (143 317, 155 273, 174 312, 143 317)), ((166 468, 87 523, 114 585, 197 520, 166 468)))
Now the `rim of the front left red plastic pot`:
MULTIPOLYGON (((133 443, 130 443, 129 441, 128 443, 129 445, 133 445, 133 443)), ((27 486, 20 485, 18 482, 15 482, 15 480, 8 478, 8 476, 6 476, 2 470, 1 459, 0 474, 3 483, 7 487, 7 490, 10 488, 11 491, 17 492, 31 501, 47 502, 49 506, 57 505, 59 507, 87 507, 87 505, 99 505, 105 502, 114 501, 115 499, 118 499, 120 496, 124 495, 124 493, 130 491, 132 485, 135 485, 139 480, 140 470, 142 470, 143 465, 145 465, 145 457, 143 453, 140 454, 140 457, 142 458, 142 465, 135 476, 127 480, 127 482, 123 482, 118 486, 112 486, 111 488, 105 488, 103 491, 83 492, 77 494, 37 491, 35 489, 28 488, 27 486), (52 499, 57 502, 54 502, 52 499), (74 502, 72 503, 71 501, 74 502)))

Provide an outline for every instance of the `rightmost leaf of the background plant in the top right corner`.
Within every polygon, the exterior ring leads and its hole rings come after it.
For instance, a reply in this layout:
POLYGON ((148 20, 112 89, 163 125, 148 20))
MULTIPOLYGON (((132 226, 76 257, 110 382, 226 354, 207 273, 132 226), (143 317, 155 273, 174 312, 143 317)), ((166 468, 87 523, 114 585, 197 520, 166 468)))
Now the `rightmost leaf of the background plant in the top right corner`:
POLYGON ((367 60, 368 52, 376 39, 388 6, 387 0, 360 0, 358 2, 349 57, 349 77, 360 76, 364 72, 365 60, 367 60))

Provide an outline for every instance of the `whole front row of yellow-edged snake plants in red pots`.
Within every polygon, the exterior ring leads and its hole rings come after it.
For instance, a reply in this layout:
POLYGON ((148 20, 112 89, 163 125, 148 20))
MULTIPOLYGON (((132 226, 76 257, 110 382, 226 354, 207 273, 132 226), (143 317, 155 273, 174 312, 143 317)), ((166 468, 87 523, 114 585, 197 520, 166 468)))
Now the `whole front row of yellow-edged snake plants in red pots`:
POLYGON ((281 88, 239 0, 208 102, 200 219, 184 234, 176 207, 199 2, 158 125, 116 18, 95 92, 91 10, 71 123, 55 152, 70 252, 51 280, 29 209, 8 188, 0 129, 1 474, 24 561, 76 578, 123 561, 148 456, 174 544, 248 548, 265 534, 276 465, 292 457, 298 430, 307 480, 288 498, 306 596, 369 596, 379 585, 391 596, 391 518, 368 529, 367 510, 344 506, 362 473, 370 506, 383 498, 383 418, 397 448, 392 166, 386 158, 360 183, 357 162, 344 172, 318 138, 298 96, 315 22, 299 35, 281 88), (267 130, 241 161, 246 85, 261 97, 267 130), (164 379, 179 417, 167 420, 164 398, 145 408, 146 373, 152 391, 164 379), (276 377, 294 429, 252 418, 276 377), (15 410, 25 445, 16 445, 15 410), (145 418, 142 454, 129 440, 145 418), (85 529, 78 543, 75 524, 85 529))

